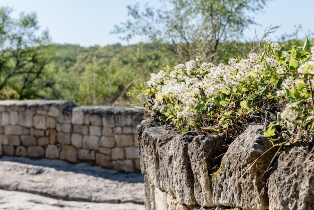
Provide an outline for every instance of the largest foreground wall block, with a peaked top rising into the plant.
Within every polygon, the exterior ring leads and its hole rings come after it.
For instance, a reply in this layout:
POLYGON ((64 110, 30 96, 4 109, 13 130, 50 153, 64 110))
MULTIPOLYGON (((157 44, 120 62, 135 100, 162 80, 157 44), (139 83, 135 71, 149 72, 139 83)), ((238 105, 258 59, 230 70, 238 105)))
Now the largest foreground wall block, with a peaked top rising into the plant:
POLYGON ((264 172, 275 151, 261 156, 272 146, 263 136, 263 129, 263 125, 249 125, 230 144, 220 168, 211 174, 215 205, 268 209, 264 172), (256 163, 250 167, 255 160, 256 163))

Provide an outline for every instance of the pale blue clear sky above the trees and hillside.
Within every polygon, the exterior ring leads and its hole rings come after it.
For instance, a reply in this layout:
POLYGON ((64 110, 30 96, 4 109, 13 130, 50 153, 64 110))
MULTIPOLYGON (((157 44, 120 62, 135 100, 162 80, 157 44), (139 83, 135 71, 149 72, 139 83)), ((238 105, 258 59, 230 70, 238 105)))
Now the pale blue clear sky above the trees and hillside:
MULTIPOLYGON (((254 0, 253 0, 254 1, 254 0)), ((110 34, 114 25, 128 19, 127 5, 139 3, 143 6, 159 8, 159 0, 0 0, 0 6, 14 9, 12 17, 18 18, 21 12, 36 12, 41 30, 49 30, 54 43, 78 44, 80 46, 107 46, 121 43, 135 44, 139 38, 123 42, 118 35, 110 34)), ((281 26, 269 38, 277 41, 282 34, 292 34, 294 26, 302 24, 298 38, 304 38, 308 31, 314 32, 314 18, 311 15, 314 1, 310 0, 270 0, 264 12, 254 15, 259 26, 252 26, 244 32, 247 40, 258 38, 269 26, 281 26)), ((313 37, 313 36, 310 36, 313 37)))

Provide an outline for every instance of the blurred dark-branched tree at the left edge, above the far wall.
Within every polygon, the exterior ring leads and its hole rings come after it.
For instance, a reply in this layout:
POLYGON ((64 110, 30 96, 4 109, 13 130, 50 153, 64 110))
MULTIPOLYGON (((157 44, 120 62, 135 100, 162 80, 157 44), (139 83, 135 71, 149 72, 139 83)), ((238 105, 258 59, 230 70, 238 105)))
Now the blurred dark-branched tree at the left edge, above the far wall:
POLYGON ((48 31, 38 36, 35 13, 10 17, 11 8, 0 8, 0 96, 1 99, 45 97, 53 87, 48 64, 54 58, 48 31))

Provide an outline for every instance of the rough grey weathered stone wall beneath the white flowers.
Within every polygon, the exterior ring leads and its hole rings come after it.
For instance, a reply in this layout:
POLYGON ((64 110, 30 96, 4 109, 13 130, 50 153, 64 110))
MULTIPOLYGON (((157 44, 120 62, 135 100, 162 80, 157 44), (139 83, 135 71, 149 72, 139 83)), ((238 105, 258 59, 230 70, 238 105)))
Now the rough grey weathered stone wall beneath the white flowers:
POLYGON ((250 125, 233 141, 143 121, 146 209, 314 209, 313 144, 277 153, 263 128, 250 125))

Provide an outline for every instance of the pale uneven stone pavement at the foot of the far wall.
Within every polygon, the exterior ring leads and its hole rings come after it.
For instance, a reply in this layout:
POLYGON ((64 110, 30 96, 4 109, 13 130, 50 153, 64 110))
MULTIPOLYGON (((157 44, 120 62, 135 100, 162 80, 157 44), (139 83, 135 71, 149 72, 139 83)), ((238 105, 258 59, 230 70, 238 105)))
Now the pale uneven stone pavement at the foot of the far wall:
POLYGON ((143 179, 87 163, 5 156, 0 209, 145 209, 143 179))

